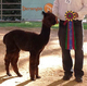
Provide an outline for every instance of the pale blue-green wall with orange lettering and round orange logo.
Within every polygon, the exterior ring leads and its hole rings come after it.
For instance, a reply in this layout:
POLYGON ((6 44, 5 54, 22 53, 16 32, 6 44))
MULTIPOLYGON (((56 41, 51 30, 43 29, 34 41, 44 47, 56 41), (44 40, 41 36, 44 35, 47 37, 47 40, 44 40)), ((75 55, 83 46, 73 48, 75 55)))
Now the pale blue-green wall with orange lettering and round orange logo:
POLYGON ((42 11, 51 11, 54 0, 22 0, 22 20, 41 20, 42 11))

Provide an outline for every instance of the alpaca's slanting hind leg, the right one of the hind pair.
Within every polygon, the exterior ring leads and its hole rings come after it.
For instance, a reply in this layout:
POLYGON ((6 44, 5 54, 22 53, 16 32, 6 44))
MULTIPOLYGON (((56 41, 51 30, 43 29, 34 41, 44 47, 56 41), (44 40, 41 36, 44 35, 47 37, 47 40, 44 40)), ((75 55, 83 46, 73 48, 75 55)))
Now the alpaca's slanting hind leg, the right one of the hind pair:
POLYGON ((18 61, 18 52, 15 52, 13 54, 13 58, 11 60, 11 64, 12 64, 12 67, 14 70, 14 72, 17 74, 17 76, 22 76, 18 72, 18 67, 17 67, 17 61, 18 61))

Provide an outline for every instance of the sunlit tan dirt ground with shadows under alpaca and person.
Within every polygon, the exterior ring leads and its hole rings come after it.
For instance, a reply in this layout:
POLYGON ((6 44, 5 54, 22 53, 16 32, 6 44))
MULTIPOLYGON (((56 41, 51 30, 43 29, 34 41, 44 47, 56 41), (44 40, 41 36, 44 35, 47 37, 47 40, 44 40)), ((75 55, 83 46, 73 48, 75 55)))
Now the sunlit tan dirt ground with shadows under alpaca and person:
MULTIPOLYGON (((0 27, 0 86, 87 86, 87 30, 84 30, 84 72, 83 83, 76 83, 75 77, 63 81, 61 48, 59 46, 58 29, 51 29, 50 40, 40 56, 39 75, 41 78, 29 81, 29 52, 21 51, 18 70, 23 77, 17 77, 10 66, 13 76, 7 76, 4 70, 5 46, 2 42, 4 34, 13 29, 24 29, 40 33, 40 28, 0 27)), ((71 51, 74 63, 74 51, 71 51)))

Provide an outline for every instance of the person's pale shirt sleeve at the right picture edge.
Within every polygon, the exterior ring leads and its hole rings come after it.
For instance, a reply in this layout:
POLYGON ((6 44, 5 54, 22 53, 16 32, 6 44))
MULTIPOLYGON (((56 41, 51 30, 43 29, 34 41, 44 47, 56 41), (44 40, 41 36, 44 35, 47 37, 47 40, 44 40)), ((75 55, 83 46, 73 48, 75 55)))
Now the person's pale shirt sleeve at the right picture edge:
POLYGON ((87 0, 82 0, 83 1, 83 8, 77 12, 78 16, 84 16, 87 14, 87 0))

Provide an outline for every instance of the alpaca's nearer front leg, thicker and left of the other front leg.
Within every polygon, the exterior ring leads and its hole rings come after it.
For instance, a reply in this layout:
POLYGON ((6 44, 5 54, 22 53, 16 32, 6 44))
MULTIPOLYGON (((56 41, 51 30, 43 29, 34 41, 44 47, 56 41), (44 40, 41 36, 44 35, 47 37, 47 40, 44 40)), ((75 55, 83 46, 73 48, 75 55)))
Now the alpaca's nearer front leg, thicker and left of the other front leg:
POLYGON ((30 54, 30 57, 29 57, 29 74, 30 74, 32 81, 35 81, 35 72, 36 72, 36 57, 30 54))

